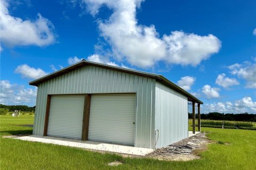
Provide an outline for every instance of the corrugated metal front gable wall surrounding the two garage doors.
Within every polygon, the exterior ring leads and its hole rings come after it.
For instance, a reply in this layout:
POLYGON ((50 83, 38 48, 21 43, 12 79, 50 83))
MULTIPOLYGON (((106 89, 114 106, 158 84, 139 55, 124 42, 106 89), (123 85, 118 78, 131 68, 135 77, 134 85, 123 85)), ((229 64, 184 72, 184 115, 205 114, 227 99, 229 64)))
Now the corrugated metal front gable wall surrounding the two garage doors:
POLYGON ((33 134, 43 135, 47 94, 137 93, 135 146, 155 147, 155 79, 84 66, 39 84, 33 134), (152 119, 153 118, 153 119, 152 119))

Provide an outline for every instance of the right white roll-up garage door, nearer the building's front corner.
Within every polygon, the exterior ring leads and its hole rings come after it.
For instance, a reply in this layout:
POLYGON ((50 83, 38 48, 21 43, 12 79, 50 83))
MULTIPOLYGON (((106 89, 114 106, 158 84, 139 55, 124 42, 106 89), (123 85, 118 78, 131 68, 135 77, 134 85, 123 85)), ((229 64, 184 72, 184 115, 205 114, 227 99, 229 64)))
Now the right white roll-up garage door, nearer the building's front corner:
POLYGON ((135 94, 92 95, 90 141, 134 146, 135 94))

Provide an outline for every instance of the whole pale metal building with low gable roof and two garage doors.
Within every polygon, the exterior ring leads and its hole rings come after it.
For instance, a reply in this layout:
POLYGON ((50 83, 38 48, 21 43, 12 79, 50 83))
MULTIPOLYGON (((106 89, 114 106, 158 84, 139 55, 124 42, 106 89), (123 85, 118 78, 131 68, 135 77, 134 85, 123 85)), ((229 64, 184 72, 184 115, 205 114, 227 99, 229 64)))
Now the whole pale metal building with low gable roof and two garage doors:
POLYGON ((34 135, 141 148, 187 138, 188 101, 203 104, 162 75, 85 60, 29 84, 34 135))

